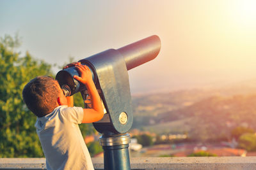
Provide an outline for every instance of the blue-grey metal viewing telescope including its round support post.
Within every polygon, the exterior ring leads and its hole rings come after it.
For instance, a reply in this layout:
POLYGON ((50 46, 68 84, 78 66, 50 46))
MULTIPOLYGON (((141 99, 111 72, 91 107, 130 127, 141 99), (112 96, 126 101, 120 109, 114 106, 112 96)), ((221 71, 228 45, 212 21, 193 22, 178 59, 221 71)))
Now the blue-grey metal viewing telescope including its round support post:
MULTIPOLYGON (((104 169, 131 169, 128 146, 133 116, 131 92, 127 71, 156 58, 161 48, 158 36, 150 36, 122 48, 109 49, 79 60, 90 68, 106 114, 93 123, 102 134, 100 145, 104 150, 104 169)), ((56 80, 67 96, 81 92, 86 99, 86 87, 73 76, 79 75, 74 67, 61 70, 56 80)))

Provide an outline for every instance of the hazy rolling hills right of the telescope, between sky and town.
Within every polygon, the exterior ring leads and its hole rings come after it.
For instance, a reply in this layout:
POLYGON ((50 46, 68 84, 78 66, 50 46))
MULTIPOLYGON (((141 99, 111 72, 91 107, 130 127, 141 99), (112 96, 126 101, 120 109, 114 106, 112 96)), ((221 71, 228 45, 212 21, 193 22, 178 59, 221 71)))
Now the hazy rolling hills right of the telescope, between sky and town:
POLYGON ((256 80, 134 95, 132 106, 132 129, 156 134, 186 133, 196 141, 228 141, 236 127, 256 130, 256 80))

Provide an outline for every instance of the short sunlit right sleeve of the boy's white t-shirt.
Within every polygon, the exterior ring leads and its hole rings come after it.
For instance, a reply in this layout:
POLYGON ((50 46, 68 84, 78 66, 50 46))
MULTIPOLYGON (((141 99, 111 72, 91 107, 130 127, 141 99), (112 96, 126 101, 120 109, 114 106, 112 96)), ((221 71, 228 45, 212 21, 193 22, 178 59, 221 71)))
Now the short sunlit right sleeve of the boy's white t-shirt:
POLYGON ((61 115, 63 118, 67 118, 69 122, 81 124, 84 117, 84 111, 81 107, 67 107, 63 108, 61 115))

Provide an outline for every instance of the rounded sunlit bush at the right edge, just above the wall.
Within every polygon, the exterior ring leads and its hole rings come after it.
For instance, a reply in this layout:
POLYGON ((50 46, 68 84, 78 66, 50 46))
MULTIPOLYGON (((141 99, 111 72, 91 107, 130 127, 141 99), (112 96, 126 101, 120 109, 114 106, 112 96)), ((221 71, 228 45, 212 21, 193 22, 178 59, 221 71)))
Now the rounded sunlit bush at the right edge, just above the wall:
POLYGON ((256 136, 252 133, 246 133, 238 139, 239 148, 247 151, 256 151, 256 136))

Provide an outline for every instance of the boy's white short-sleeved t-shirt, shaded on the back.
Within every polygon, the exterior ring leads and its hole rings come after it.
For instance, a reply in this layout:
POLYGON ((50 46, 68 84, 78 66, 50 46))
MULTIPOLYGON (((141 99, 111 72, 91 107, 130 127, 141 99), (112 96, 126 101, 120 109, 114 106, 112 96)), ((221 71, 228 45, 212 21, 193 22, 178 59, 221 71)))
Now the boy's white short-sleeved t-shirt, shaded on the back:
POLYGON ((47 169, 93 169, 90 153, 78 127, 83 108, 58 106, 36 120, 47 169))

